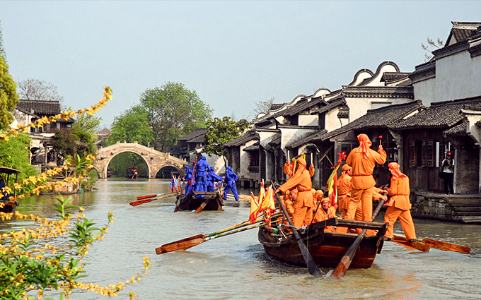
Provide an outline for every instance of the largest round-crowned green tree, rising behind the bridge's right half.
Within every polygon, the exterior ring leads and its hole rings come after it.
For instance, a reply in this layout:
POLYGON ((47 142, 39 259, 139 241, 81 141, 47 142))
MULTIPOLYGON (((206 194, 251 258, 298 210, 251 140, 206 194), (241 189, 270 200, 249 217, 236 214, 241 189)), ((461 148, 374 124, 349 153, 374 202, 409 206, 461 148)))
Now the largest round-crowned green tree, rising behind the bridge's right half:
POLYGON ((149 114, 153 130, 153 146, 167 151, 180 136, 205 126, 212 109, 195 91, 182 83, 168 82, 160 88, 148 89, 141 95, 141 106, 149 114))

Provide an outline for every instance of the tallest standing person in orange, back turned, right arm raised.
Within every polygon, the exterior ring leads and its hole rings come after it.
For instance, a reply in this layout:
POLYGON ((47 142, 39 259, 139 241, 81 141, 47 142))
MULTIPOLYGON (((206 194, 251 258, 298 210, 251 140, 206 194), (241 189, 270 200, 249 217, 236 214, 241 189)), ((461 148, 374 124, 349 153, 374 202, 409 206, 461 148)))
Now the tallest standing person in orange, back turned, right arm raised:
MULTIPOLYGON (((347 157, 346 163, 352 167, 351 179, 351 199, 347 207, 346 220, 354 220, 356 210, 361 203, 362 220, 372 222, 373 214, 373 188, 376 181, 373 178, 373 170, 376 163, 383 164, 386 162, 386 152, 383 146, 379 145, 378 151, 372 150, 369 137, 361 133, 357 136, 359 147, 354 148, 347 157)), ((367 234, 372 233, 368 231, 367 234)))

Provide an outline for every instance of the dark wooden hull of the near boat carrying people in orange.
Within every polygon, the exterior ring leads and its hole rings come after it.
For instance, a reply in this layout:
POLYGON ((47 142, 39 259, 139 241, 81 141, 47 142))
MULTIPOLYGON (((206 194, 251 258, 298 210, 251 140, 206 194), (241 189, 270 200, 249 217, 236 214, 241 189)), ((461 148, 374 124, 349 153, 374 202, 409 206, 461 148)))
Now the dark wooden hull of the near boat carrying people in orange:
MULTIPOLYGON (((360 222, 333 218, 323 222, 313 223, 308 230, 299 230, 304 244, 306 244, 315 263, 320 268, 336 268, 342 256, 344 256, 358 236, 358 234, 324 232, 324 227, 327 226, 378 230, 376 236, 364 236, 350 268, 371 267, 374 258, 376 258, 376 253, 381 253, 381 249, 383 248, 383 235, 388 229, 387 223, 360 222)), ((270 229, 266 226, 260 227, 257 236, 260 244, 264 246, 265 252, 275 260, 290 265, 306 267, 294 234, 286 232, 286 229, 282 227, 285 228, 289 226, 281 225, 280 229, 282 229, 284 235, 282 232, 279 232, 278 227, 272 227, 270 229)))

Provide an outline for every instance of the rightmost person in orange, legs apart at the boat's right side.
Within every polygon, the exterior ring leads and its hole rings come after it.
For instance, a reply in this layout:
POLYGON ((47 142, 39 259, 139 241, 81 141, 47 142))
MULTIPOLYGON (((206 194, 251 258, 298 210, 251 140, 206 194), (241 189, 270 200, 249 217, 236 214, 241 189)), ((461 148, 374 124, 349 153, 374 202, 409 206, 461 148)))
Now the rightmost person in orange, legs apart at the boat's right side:
POLYGON ((396 220, 399 219, 402 226, 402 231, 406 238, 412 243, 416 239, 415 224, 411 217, 411 202, 410 202, 410 186, 409 177, 401 173, 400 165, 397 162, 390 162, 388 164, 389 171, 393 174, 390 181, 390 187, 387 192, 390 196, 386 215, 384 215, 384 222, 389 222, 389 228, 386 231, 386 238, 393 238, 393 227, 396 220))

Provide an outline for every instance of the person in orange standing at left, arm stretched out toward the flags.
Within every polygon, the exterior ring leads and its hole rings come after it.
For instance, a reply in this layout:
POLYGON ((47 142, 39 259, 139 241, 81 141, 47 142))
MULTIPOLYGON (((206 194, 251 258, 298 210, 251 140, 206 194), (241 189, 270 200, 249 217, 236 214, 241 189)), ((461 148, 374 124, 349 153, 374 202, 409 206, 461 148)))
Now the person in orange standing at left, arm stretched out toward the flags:
MULTIPOLYGON (((297 189, 298 195, 294 201, 294 216, 292 222, 295 227, 301 227, 306 223, 306 215, 308 217, 308 210, 311 210, 312 217, 312 207, 313 207, 313 194, 311 193, 311 188, 313 186, 311 181, 311 176, 306 170, 306 160, 302 157, 297 160, 299 168, 296 173, 291 176, 291 178, 286 181, 282 186, 277 188, 276 193, 297 189)), ((292 191, 291 191, 292 193, 292 191)), ((308 219, 308 218, 307 218, 308 219)))

